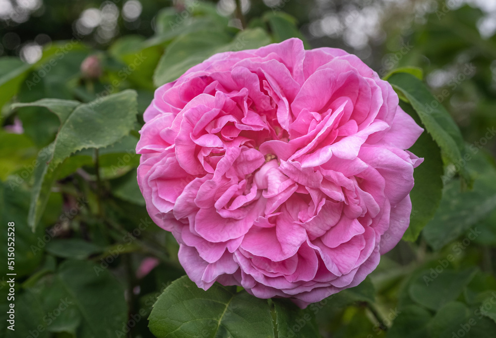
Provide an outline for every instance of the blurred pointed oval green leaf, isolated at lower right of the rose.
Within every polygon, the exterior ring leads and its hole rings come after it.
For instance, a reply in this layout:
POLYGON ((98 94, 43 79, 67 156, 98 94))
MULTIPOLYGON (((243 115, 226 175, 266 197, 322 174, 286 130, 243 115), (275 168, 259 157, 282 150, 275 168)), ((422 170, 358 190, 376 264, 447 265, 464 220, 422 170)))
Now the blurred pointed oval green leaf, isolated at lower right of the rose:
POLYGON ((434 269, 425 270, 412 281, 408 292, 412 300, 418 304, 437 310, 457 299, 476 271, 476 269, 441 270, 441 272, 434 269))

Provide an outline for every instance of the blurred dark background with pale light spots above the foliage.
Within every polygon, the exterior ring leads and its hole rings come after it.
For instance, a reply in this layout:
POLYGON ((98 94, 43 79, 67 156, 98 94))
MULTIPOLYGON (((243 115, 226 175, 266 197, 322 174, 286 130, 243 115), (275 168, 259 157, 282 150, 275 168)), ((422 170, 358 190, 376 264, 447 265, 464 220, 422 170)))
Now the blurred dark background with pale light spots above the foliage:
MULTIPOLYGON (((235 0, 215 5, 220 15, 234 16, 235 0)), ((106 49, 124 35, 155 34, 160 9, 184 6, 180 0, 0 0, 0 56, 33 64, 53 41, 74 36, 106 49)), ((312 48, 342 48, 380 75, 403 65, 422 68, 435 93, 449 90, 442 104, 469 141, 494 124, 496 1, 242 0, 241 6, 247 22, 267 10, 284 11, 312 48), (473 71, 456 80, 469 64, 473 71)))

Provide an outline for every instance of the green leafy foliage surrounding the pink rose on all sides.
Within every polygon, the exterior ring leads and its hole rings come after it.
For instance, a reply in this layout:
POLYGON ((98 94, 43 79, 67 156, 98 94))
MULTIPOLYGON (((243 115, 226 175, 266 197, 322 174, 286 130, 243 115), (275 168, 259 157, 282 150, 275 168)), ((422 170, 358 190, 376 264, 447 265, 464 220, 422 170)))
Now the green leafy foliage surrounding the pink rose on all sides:
POLYGON ((478 69, 490 69, 495 37, 477 35, 479 13, 463 6, 443 12, 442 20, 429 14, 410 37, 415 49, 384 77, 426 130, 410 149, 425 161, 415 171, 405 241, 360 285, 302 310, 242 288, 198 289, 178 262, 174 238, 149 218, 137 186, 134 149, 158 85, 217 52, 303 38, 297 20, 282 11, 256 13, 262 7, 254 6, 240 30, 214 6, 193 3, 186 12, 162 9, 149 38, 124 35, 104 50, 60 41, 35 64, 0 58, 1 127, 21 122, 24 131, 0 130, 1 258, 7 223, 15 222, 16 273, 12 332, 2 266, 0 335, 493 337, 496 166, 491 148, 479 146, 484 137, 494 144, 487 134, 496 121, 488 113, 496 104, 487 89, 490 71, 456 86, 458 95, 475 83, 483 98, 460 128, 451 101, 439 103, 420 70, 429 76, 448 67, 447 55, 469 49, 478 69), (178 21, 180 13, 186 17, 178 21), (96 56, 99 76, 81 70, 88 56, 96 56), (421 56, 432 62, 425 65, 421 56))

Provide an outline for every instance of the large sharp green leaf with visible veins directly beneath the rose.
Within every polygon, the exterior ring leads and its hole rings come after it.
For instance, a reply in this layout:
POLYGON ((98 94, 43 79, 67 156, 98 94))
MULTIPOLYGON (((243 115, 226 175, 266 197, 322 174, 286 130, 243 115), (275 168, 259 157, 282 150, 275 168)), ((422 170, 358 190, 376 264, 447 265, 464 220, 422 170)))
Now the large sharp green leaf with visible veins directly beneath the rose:
POLYGON ((218 283, 207 291, 187 276, 160 295, 149 317, 157 338, 270 338, 274 329, 266 300, 218 283))

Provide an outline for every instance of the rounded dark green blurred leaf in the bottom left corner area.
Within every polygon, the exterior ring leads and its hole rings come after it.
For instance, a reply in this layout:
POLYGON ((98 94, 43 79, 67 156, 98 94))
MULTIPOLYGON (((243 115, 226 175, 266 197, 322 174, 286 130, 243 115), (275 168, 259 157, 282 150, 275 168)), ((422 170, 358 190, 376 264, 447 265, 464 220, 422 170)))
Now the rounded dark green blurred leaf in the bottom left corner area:
POLYGON ((124 288, 109 271, 98 269, 91 262, 67 260, 55 275, 40 281, 38 296, 47 312, 65 304, 50 331, 91 338, 114 337, 122 330, 127 321, 124 288))

